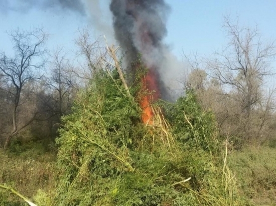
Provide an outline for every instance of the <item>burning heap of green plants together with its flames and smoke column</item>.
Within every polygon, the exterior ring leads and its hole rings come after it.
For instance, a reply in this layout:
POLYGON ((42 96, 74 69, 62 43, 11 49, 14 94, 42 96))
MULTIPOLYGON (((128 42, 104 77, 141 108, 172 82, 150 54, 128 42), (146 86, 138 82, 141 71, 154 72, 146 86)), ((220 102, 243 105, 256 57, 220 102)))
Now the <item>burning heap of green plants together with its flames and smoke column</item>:
POLYGON ((238 194, 227 141, 212 112, 201 108, 192 90, 170 101, 163 43, 169 6, 164 0, 111 0, 110 10, 125 72, 117 49, 107 47, 114 61, 101 58, 109 65, 95 71, 63 117, 56 187, 40 190, 36 203, 250 205, 238 194))

